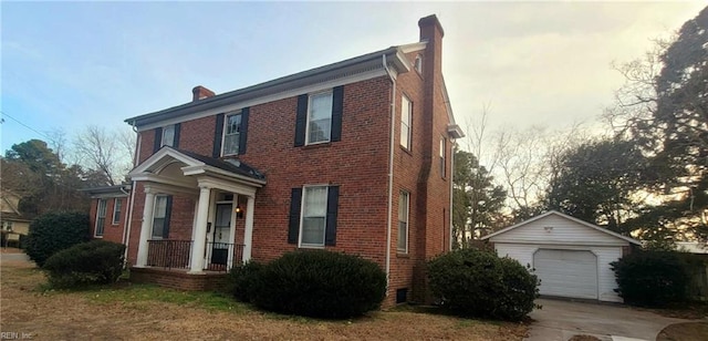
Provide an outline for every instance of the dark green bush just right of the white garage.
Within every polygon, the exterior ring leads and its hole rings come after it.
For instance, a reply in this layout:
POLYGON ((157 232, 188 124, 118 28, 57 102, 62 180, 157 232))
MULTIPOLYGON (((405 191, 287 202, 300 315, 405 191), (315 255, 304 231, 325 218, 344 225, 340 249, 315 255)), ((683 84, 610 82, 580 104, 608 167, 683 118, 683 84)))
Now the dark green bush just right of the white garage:
POLYGON ((624 302, 664 307, 686 300, 687 264, 675 251, 636 251, 610 264, 624 302))

